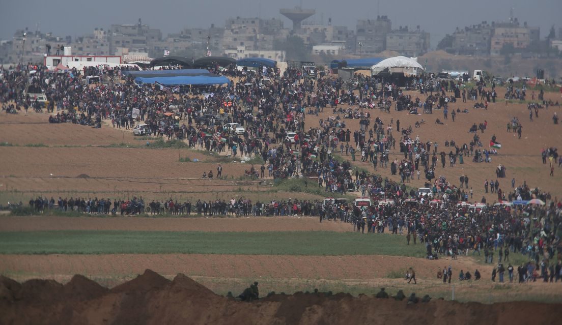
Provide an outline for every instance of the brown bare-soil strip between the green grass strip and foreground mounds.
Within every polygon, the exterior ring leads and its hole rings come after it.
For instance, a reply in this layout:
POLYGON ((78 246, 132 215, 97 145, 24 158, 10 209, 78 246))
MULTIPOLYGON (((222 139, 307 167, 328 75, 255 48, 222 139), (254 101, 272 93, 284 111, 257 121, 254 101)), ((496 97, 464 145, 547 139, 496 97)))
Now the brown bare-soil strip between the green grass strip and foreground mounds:
MULTIPOLYGON (((375 247, 373 249, 376 249, 375 247)), ((111 254, 111 255, 0 255, 0 273, 42 274, 43 277, 72 274, 128 276, 152 269, 160 274, 216 278, 300 278, 368 280, 387 278, 392 271, 416 270, 420 280, 433 281, 437 269, 452 265, 453 280, 461 269, 478 268, 490 279, 491 267, 472 258, 428 260, 386 255, 289 256, 289 255, 202 255, 202 254, 111 254)))

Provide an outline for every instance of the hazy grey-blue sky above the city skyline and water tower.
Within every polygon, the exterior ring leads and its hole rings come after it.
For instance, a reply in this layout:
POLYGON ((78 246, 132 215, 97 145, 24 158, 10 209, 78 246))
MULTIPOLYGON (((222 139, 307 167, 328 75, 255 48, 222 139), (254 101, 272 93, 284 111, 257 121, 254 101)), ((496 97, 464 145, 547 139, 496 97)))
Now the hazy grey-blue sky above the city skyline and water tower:
POLYGON ((436 47, 445 34, 482 21, 507 21, 510 8, 523 24, 541 28, 544 38, 552 25, 562 28, 562 0, 2 0, 0 4, 0 39, 11 39, 17 29, 53 32, 73 38, 91 34, 94 28, 107 29, 111 24, 143 24, 162 30, 165 35, 183 28, 224 26, 229 17, 279 18, 285 28, 291 21, 279 14, 280 8, 300 6, 316 10, 310 18, 320 24, 343 25, 355 30, 357 19, 376 19, 387 15, 392 28, 409 26, 431 34, 436 47))

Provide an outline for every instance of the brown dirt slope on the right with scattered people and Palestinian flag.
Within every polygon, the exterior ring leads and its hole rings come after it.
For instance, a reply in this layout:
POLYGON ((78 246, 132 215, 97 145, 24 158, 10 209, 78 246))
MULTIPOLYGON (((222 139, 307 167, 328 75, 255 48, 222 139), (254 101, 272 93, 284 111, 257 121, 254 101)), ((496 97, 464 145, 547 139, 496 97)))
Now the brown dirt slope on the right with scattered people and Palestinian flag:
MULTIPOLYGON (((504 93, 505 89, 498 89, 498 98, 502 98, 504 93)), ((414 91, 411 91, 408 94, 410 94, 413 98, 419 96, 419 93, 414 91)), ((536 94, 538 94, 538 91, 536 94)), ((562 100, 560 95, 555 93, 547 93, 545 98, 551 98, 554 101, 562 100)), ((425 96, 420 97, 420 99, 424 100, 425 96)), ((480 100, 478 100, 478 102, 480 102, 480 100)), ((492 162, 474 163, 472 162, 472 157, 465 157, 464 164, 459 164, 457 160, 456 166, 451 168, 449 167, 450 165, 447 161, 445 168, 441 168, 441 159, 438 159, 435 174, 436 177, 443 175, 447 177, 447 180, 450 181, 451 184, 460 185, 459 177, 463 174, 467 175, 469 176, 469 185, 473 187, 474 191, 473 200, 477 200, 479 202, 482 196, 486 196, 487 202, 495 202, 497 201, 497 194, 488 193, 486 195, 484 193, 483 184, 485 179, 496 180, 497 177, 495 170, 498 164, 503 164, 507 169, 506 178, 498 178, 498 182, 500 182, 500 189, 502 189, 502 191, 507 191, 507 193, 509 193, 511 190, 511 178, 515 178, 516 186, 523 184, 524 181, 527 181, 527 184, 533 187, 537 186, 542 190, 550 191, 553 199, 554 196, 558 196, 558 198, 560 198, 562 195, 562 186, 560 186, 560 182, 562 181, 562 169, 558 168, 558 164, 556 164, 554 177, 550 177, 549 164, 542 163, 541 149, 557 147, 560 143, 562 143, 562 124, 559 123, 558 125, 555 125, 552 122, 554 112, 558 112, 558 116, 562 116, 562 107, 540 109, 540 112, 538 113, 539 117, 535 118, 533 116, 533 122, 530 122, 527 104, 510 103, 508 106, 505 106, 505 102, 490 103, 488 105, 488 110, 484 111, 484 109, 473 109, 472 107, 474 103, 475 102, 472 100, 467 100, 467 103, 464 104, 461 100, 456 103, 450 103, 449 112, 451 112, 451 108, 455 110, 459 108, 461 111, 465 108, 469 109, 468 114, 457 113, 455 122, 452 122, 450 116, 451 113, 449 113, 448 120, 443 120, 442 110, 433 110, 432 115, 422 114, 415 116, 409 115, 404 111, 394 111, 394 108, 392 108, 390 113, 371 110, 371 123, 375 117, 381 118, 385 125, 388 125, 391 120, 393 120, 393 130, 395 130, 396 121, 400 120, 401 129, 412 126, 413 139, 415 136, 419 135, 421 141, 437 141, 437 151, 444 151, 448 154, 450 150, 453 150, 454 152, 455 149, 445 147, 446 140, 455 140, 455 143, 458 144, 459 147, 464 143, 469 144, 474 135, 468 132, 470 126, 472 126, 473 123, 478 125, 486 120, 488 122, 487 130, 483 134, 480 132, 478 133, 483 144, 481 149, 483 150, 489 148, 490 139, 494 134, 497 137, 497 141, 502 145, 501 149, 498 150, 499 154, 497 156, 491 156, 492 162), (523 134, 521 139, 518 139, 516 133, 506 132, 507 122, 512 117, 518 117, 519 121, 523 125, 523 134), (425 124, 416 129, 414 127, 415 122, 421 121, 422 118, 425 121, 425 124), (436 118, 443 121, 445 125, 435 124, 436 118)), ((423 113, 423 110, 421 113, 423 113)), ((309 123, 311 123, 312 126, 318 126, 319 118, 326 119, 329 116, 336 116, 336 114, 332 112, 332 108, 325 108, 324 113, 320 113, 319 117, 307 116, 307 126, 309 123)), ((345 122, 347 123, 346 129, 348 128, 352 132, 353 130, 359 130, 359 120, 345 120, 345 122)), ((397 135, 395 131, 393 134, 396 138, 397 135)), ((355 162, 357 166, 364 167, 365 169, 374 172, 373 165, 371 163, 361 163, 360 153, 356 154, 356 157, 359 157, 359 159, 355 162)), ((348 159, 351 161, 351 156, 348 156, 348 159)), ((398 144, 396 144, 395 150, 391 150, 390 159, 391 161, 393 159, 398 159, 398 161, 400 161, 400 159, 404 159, 404 154, 400 153, 398 144)), ((420 180, 411 181, 409 184, 410 186, 420 187, 424 185, 423 170, 421 170, 421 172, 422 175, 420 175, 420 180)), ((386 169, 378 167, 377 173, 383 177, 400 181, 399 175, 391 175, 390 164, 388 164, 388 168, 386 169)))

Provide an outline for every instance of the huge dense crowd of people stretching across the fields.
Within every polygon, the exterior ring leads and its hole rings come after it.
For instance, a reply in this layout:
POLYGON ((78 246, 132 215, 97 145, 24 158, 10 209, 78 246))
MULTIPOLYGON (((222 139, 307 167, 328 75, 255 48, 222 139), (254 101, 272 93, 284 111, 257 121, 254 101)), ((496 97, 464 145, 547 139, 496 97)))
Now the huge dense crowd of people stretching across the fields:
MULTIPOLYGON (((185 140, 192 147, 233 156, 255 155, 264 162, 262 175, 267 170, 275 181, 312 178, 327 194, 353 191, 369 196, 373 200, 370 207, 361 209, 352 204, 323 204, 318 200, 300 199, 267 203, 243 198, 148 202, 140 197, 128 200, 59 198, 57 201, 38 198, 30 201, 30 205, 39 212, 57 207, 93 214, 126 215, 148 211, 208 216, 320 215, 320 221, 326 218, 350 222, 354 230, 361 229, 362 232, 365 227, 368 233, 384 232, 387 227, 394 234, 406 232, 414 242, 426 245, 427 256, 431 259, 439 255, 455 257, 469 251, 480 255, 481 250, 488 257, 497 250, 509 249, 528 254, 534 265, 545 260, 545 270, 550 269, 555 255, 562 253, 556 235, 562 205, 553 202, 550 194, 526 183, 517 187, 512 183, 509 191, 500 189, 496 180, 491 188, 498 194, 498 201, 537 198, 547 204, 515 208, 494 205, 470 211, 467 205, 458 205, 466 202, 469 196, 472 199, 468 176, 463 175, 460 187, 443 176, 437 177, 439 159, 441 168, 446 168, 447 162, 447 168, 464 164, 464 159, 469 156, 474 162, 491 161, 495 152, 481 148, 479 135, 486 130, 486 121, 480 126, 474 125, 474 130, 469 131, 472 139, 466 140, 468 144, 451 139, 444 144, 446 149, 438 150, 437 141, 424 141, 414 136, 414 129, 401 127, 400 120, 372 119, 374 108, 389 112, 392 105, 397 111, 411 114, 417 114, 418 108, 423 108, 424 113, 432 113, 434 108, 443 108, 445 112, 449 103, 461 95, 464 102, 467 93, 473 100, 478 100, 478 96, 485 100, 483 108, 486 109, 488 102, 495 101, 495 85, 486 90, 486 83, 479 82, 476 88, 465 89, 460 83, 449 83, 436 77, 413 79, 410 86, 427 96, 422 100, 404 93, 392 81, 377 77, 358 76, 356 84, 350 87, 341 79, 330 76, 318 80, 301 79, 302 71, 298 69, 289 68, 283 74, 277 68, 258 71, 225 70, 221 73, 234 73, 239 80, 223 87, 167 88, 159 84, 137 85, 122 74, 121 68, 90 67, 84 71, 73 69, 66 74, 55 74, 41 66, 18 66, 4 72, 0 101, 13 103, 16 112, 20 107, 38 107, 37 98, 31 98, 24 85, 33 86, 47 97, 46 108, 52 114, 49 122, 72 121, 101 127, 102 121, 106 120, 112 127, 125 129, 133 129, 135 123, 142 122, 147 125, 148 135, 185 140), (30 78, 31 68, 35 72, 30 78), (94 74, 107 76, 105 80, 109 82, 86 85, 81 81, 81 76, 94 74), (452 96, 448 94, 451 91, 455 93, 452 96), (357 108, 338 107, 342 103, 357 108), (305 127, 307 115, 318 115, 324 109, 332 109, 334 116, 320 119, 318 125, 309 123, 305 127), (345 120, 350 118, 361 121, 359 130, 346 127, 345 120), (238 123, 244 127, 244 132, 235 134, 225 129, 224 123, 238 123), (292 139, 288 132, 295 133, 292 139), (391 161, 389 151, 395 150, 397 144, 404 159, 391 161), (334 155, 336 152, 343 156, 343 161, 334 155), (352 162, 356 154, 361 155, 361 161, 372 163, 374 171, 390 165, 392 175, 398 173, 400 181, 354 168, 352 162), (348 155, 351 155, 351 162, 346 160, 348 155), (406 187, 405 183, 414 177, 420 179, 420 174, 427 180, 426 186, 432 191, 430 196, 439 200, 437 204, 406 187), (383 200, 394 203, 378 204, 383 200), (406 200, 415 200, 416 204, 403 205, 406 200)), ((525 89, 510 88, 508 95, 521 99, 526 93, 525 89)), ((529 111, 533 112, 531 108, 529 111)), ((421 124, 416 124, 416 128, 419 126, 421 124)), ((507 124, 507 131, 510 129, 516 130, 520 138, 522 126, 518 120, 507 124)), ((485 203, 484 198, 482 201, 485 203)))

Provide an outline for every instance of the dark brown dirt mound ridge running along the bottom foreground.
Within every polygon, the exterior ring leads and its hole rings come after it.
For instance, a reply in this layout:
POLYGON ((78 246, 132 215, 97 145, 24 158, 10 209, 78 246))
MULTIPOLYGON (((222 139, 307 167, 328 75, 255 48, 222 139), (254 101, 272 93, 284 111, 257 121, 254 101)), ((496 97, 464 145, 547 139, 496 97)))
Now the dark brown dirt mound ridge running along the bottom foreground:
POLYGON ((408 304, 366 295, 302 292, 242 303, 217 296, 183 274, 169 281, 149 270, 112 290, 82 276, 65 286, 44 280, 20 285, 0 277, 0 294, 2 324, 555 324, 562 316, 556 304, 437 299, 408 304))

